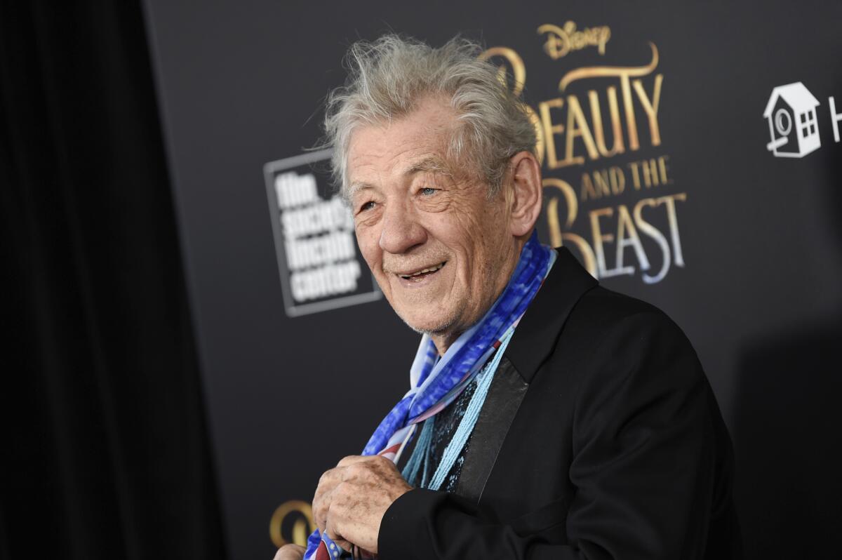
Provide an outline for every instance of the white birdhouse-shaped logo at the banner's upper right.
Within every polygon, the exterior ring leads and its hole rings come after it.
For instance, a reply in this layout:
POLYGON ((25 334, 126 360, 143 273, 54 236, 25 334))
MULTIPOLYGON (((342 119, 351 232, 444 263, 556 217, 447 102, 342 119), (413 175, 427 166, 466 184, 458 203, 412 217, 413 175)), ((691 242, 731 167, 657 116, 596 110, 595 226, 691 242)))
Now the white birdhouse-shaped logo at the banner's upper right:
POLYGON ((804 157, 822 146, 816 123, 818 99, 801 82, 772 90, 763 116, 769 121, 766 149, 775 157, 804 157))

